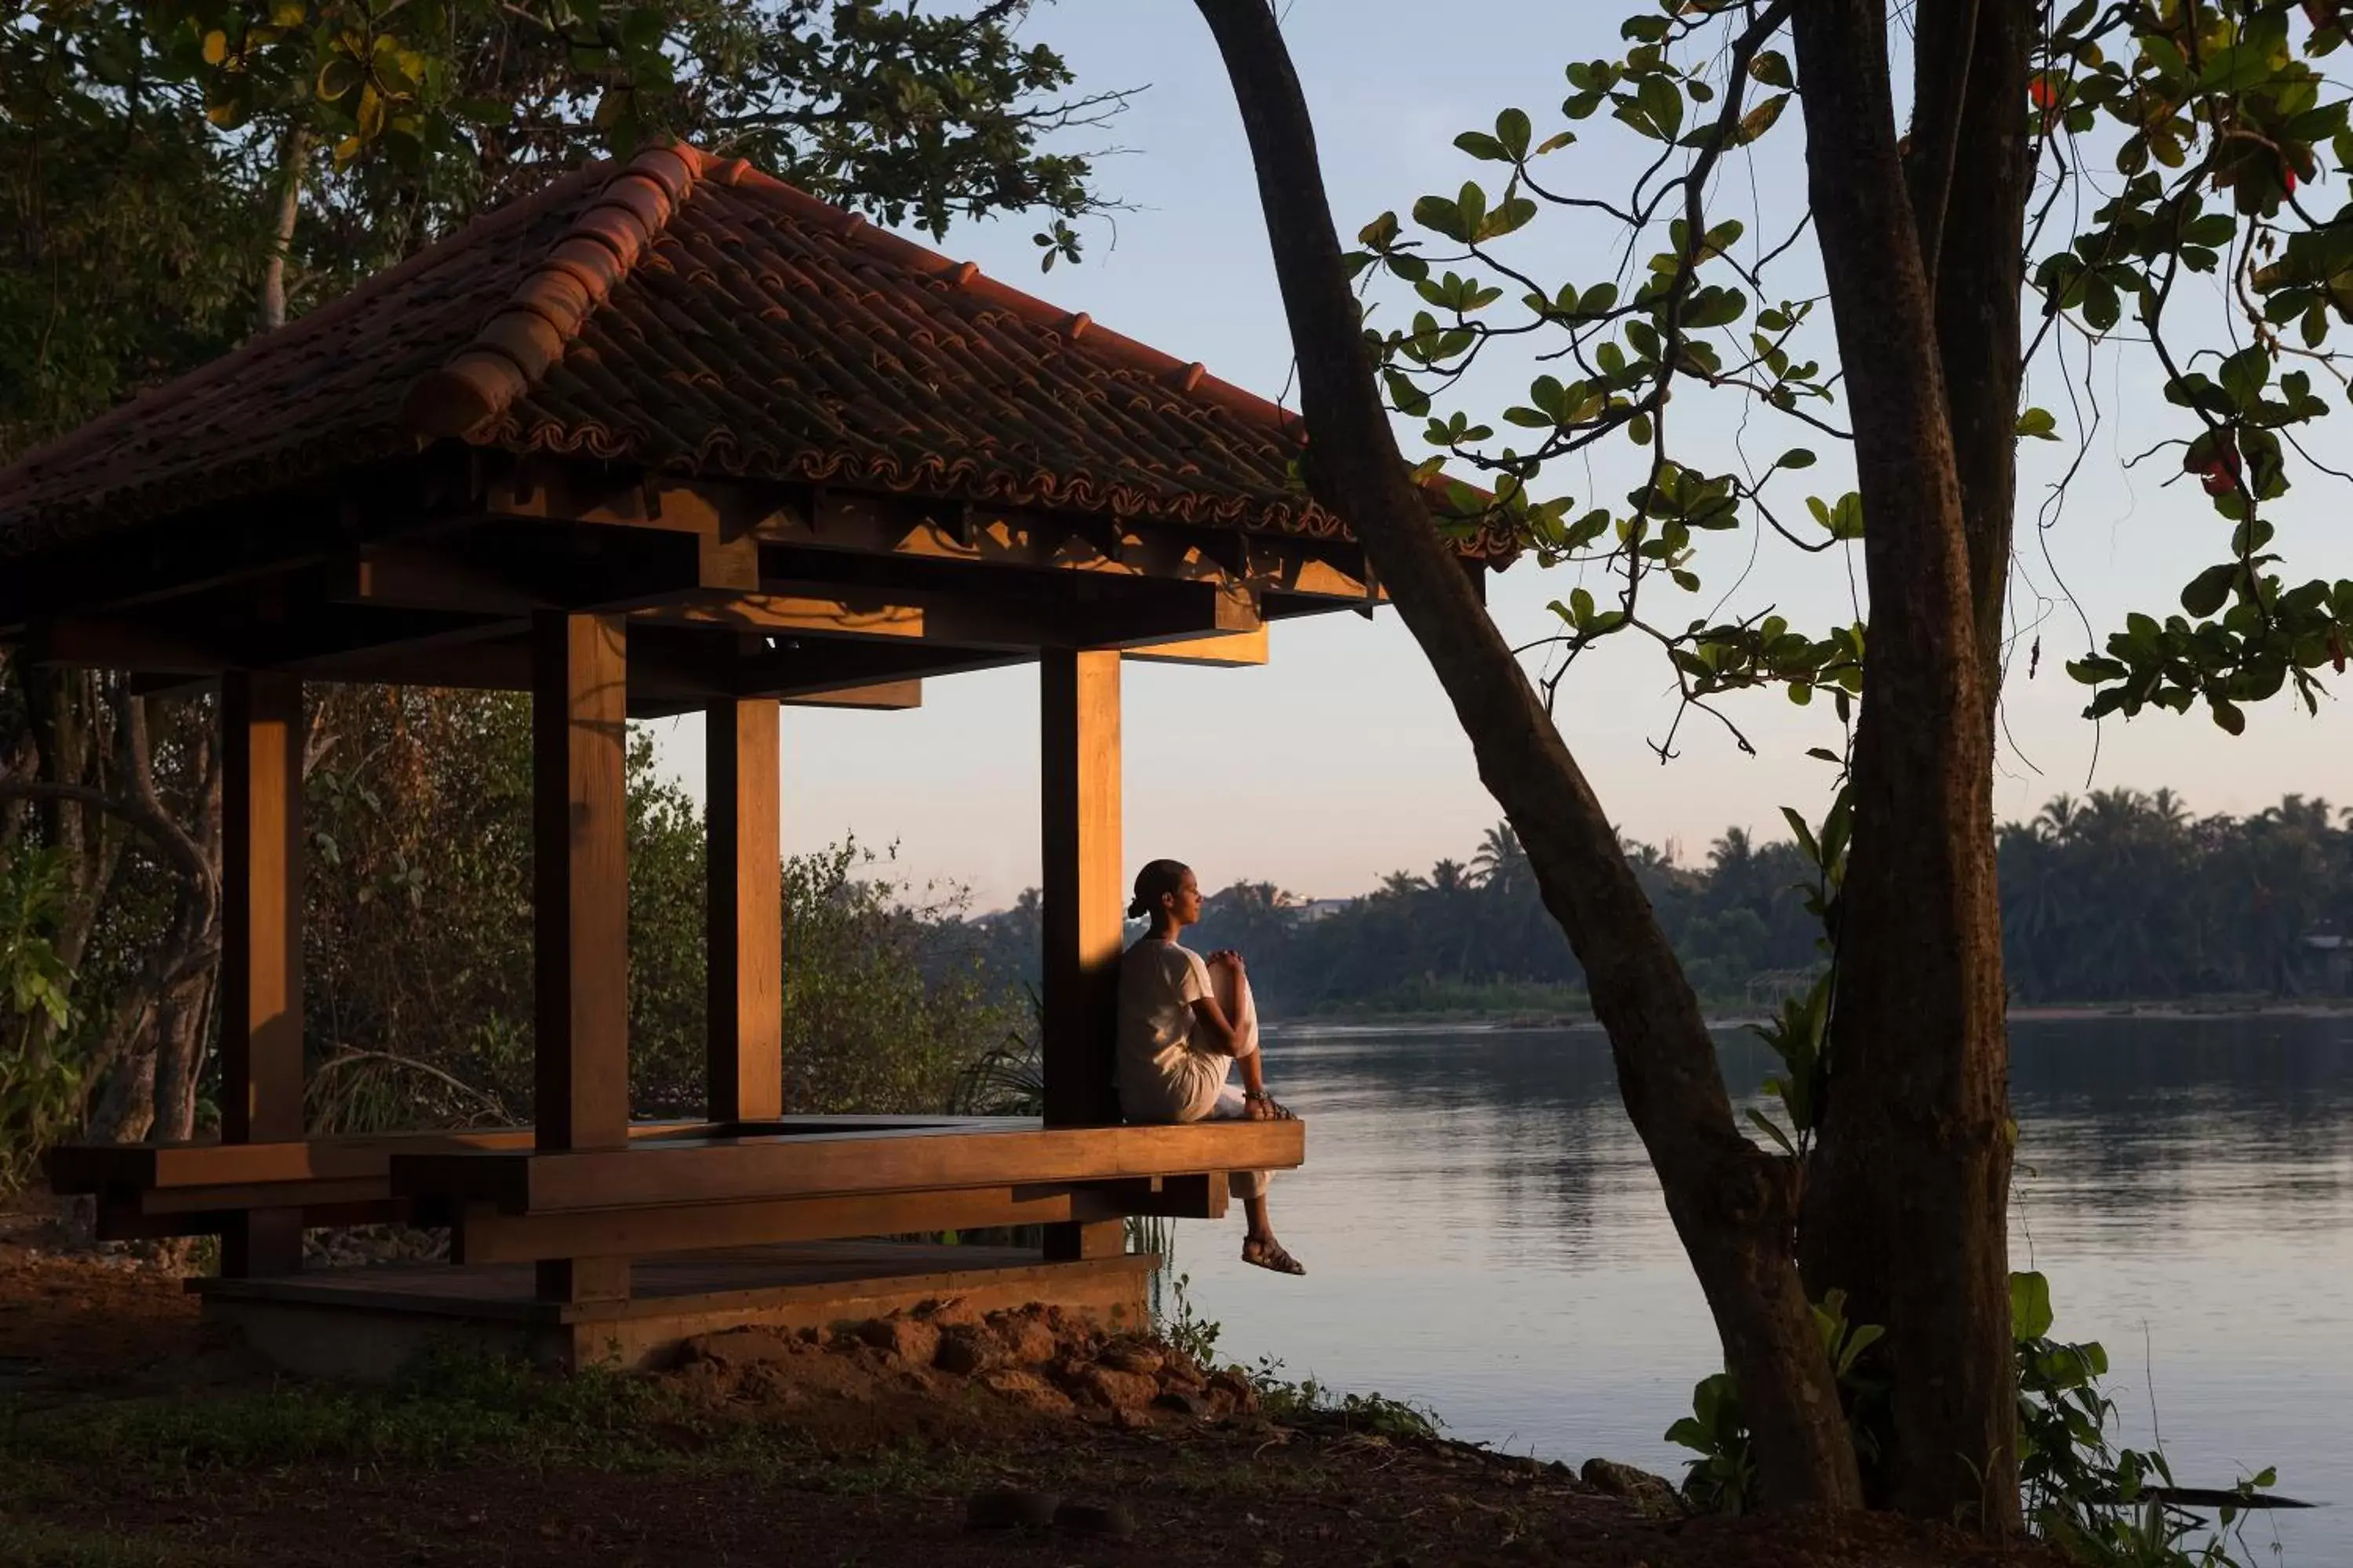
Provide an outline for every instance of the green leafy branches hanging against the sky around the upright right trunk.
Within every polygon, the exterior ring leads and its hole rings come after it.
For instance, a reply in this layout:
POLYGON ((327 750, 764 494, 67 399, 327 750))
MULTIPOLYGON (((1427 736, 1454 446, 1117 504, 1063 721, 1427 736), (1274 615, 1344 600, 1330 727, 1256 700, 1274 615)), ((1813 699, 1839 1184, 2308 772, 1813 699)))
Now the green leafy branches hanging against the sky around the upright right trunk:
MULTIPOLYGON (((1779 47, 1786 19, 1755 0, 1631 16, 1619 56, 1567 66, 1553 122, 1506 108, 1464 132, 1454 146, 1494 172, 1405 221, 1381 214, 1348 259, 1388 402, 1433 449, 1424 475, 1475 475, 1482 489, 1454 487, 1457 510, 1501 515, 1539 559, 1584 569, 1588 585, 1553 604, 1551 682, 1598 639, 1640 632, 1685 708, 1727 726, 1718 698, 1767 684, 1800 703, 1828 691, 1847 719, 1864 670, 1859 623, 1805 635, 1769 611, 1727 616, 1718 581, 1746 571, 1762 534, 1828 552, 1866 527, 1857 494, 1800 477, 1849 442, 1812 214, 1753 235, 1727 212, 1751 212, 1760 169, 1798 155, 1767 146, 1798 122, 1786 108, 1802 92, 1779 47), (1569 174, 1579 155, 1628 167, 1628 148, 1638 172, 1605 197, 1569 174), (1607 256, 1593 273, 1544 270, 1562 249, 1600 249, 1595 235, 1607 256), (1482 369, 1489 355, 1511 367, 1482 369), (1539 374, 1494 418, 1457 407, 1522 364, 1539 374), (1732 454, 1711 444, 1722 421, 1689 418, 1704 390, 1744 404, 1725 411, 1739 418, 1732 454), (1621 496, 1577 501, 1555 480, 1574 463, 1591 482, 1612 461, 1640 475, 1621 496), (1727 552, 1720 541, 1741 534, 1727 552)), ((2242 703, 2294 684, 2313 705, 2344 672, 2353 581, 2292 583, 2273 543, 2292 484, 2353 482, 2315 433, 2353 390, 2337 339, 2353 322, 2353 127, 2325 71, 2348 24, 2334 2, 2080 0, 2038 45, 2017 103, 2038 160, 2031 367, 2087 383, 2094 350, 2146 355, 2177 411, 2151 451, 2179 461, 2228 541, 2181 590, 2181 614, 2137 614, 2068 665, 2094 686, 2094 717, 2202 701, 2238 731, 2242 703)), ((2026 407, 2017 435, 2061 440, 2059 418, 2026 407)))

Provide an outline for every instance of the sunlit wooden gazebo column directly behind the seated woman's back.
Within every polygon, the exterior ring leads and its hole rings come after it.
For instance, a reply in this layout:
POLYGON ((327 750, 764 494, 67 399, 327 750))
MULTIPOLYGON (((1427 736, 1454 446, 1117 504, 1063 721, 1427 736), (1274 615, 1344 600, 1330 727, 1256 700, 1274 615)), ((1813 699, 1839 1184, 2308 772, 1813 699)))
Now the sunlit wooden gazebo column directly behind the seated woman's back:
MULTIPOLYGON (((1120 1119, 1111 1084, 1122 914, 1120 656, 1047 649, 1040 658, 1042 1058, 1047 1126, 1120 1119)), ((1047 1258, 1122 1251, 1118 1220, 1049 1225, 1047 1258)))

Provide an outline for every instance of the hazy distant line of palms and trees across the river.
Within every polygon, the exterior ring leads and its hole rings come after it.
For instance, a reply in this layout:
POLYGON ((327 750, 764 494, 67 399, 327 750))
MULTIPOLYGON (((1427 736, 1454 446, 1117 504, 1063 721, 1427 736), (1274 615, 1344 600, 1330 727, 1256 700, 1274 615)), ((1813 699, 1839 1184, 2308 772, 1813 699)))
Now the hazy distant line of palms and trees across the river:
MULTIPOLYGON (((1701 865, 1628 842, 1692 985, 1769 1004, 1826 961, 1788 839, 1727 827, 1701 865)), ((2193 816, 2172 790, 2059 795, 2000 830, 2002 947, 2017 1001, 2341 994, 2353 943, 2353 811, 2285 797, 2193 816)), ((1035 978, 1038 896, 976 922, 991 969, 1035 978)), ((1508 825, 1468 860, 1391 872, 1372 893, 1301 900, 1271 882, 1209 896, 1188 936, 1238 947, 1282 1013, 1522 1009, 1572 1001, 1584 973, 1508 825)))

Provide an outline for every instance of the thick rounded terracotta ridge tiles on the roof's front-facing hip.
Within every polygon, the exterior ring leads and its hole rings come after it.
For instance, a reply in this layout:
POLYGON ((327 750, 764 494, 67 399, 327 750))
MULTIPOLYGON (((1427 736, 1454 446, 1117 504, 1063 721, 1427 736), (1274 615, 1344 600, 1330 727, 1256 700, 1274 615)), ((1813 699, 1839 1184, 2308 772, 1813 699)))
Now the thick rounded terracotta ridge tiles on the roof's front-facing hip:
POLYGON ((409 383, 400 423, 424 437, 466 435, 506 414, 565 357, 588 315, 654 247, 708 167, 711 158, 687 143, 631 158, 473 341, 409 383))

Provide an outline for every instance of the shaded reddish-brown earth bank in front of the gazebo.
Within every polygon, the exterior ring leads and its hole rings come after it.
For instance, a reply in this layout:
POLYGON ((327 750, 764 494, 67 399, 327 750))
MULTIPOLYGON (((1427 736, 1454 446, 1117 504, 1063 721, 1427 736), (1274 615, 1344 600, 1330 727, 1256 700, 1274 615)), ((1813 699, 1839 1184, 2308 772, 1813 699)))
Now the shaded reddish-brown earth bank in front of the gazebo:
POLYGON ((447 1363, 407 1387, 346 1389, 254 1366, 165 1269, 56 1255, 19 1229, 0 1237, 0 1561, 2052 1561, 1889 1519, 1682 1519, 1605 1467, 1586 1479, 1504 1458, 1379 1406, 1259 1401, 1233 1394, 1238 1375, 1193 1408, 1082 1392, 1111 1378, 1141 1378, 1136 1394, 1181 1387, 1165 1347, 1061 1333, 1056 1356, 1092 1345, 1094 1359, 1059 1382, 1049 1363, 1005 1363, 995 1382, 932 1366, 946 1359, 925 1333, 965 1331, 991 1333, 899 1324, 706 1345, 654 1378, 447 1363), (1153 1356, 1158 1371, 1118 1371, 1153 1356), (1056 1523, 1002 1523, 1052 1521, 1056 1500, 1071 1505, 1056 1523))

